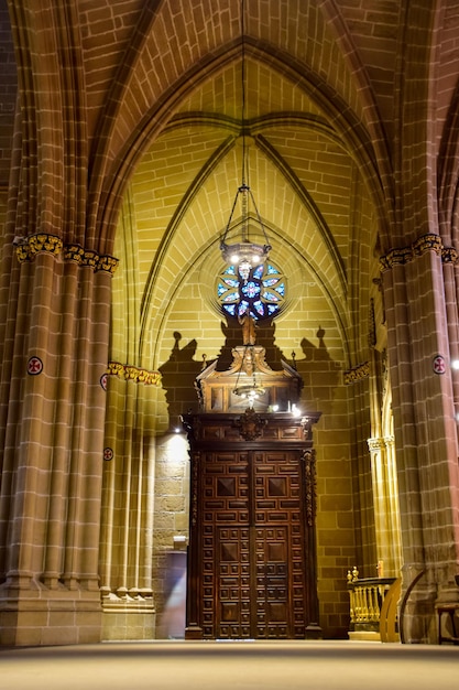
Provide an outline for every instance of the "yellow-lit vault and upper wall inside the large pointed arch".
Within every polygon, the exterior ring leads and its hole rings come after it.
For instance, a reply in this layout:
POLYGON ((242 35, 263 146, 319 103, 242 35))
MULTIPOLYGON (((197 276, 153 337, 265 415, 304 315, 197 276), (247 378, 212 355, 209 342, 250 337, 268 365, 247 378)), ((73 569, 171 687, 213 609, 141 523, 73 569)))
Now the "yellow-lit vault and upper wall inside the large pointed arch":
MULTIPOLYGON (((342 360, 349 256, 363 238, 375 244, 365 182, 348 142, 303 87, 254 56, 245 56, 244 67, 248 181, 273 246, 271 257, 287 282, 286 309, 277 324, 281 345, 289 355, 305 333, 316 339, 326 324, 342 360)), ((129 216, 138 250, 133 276, 144 365, 163 364, 173 332, 184 342, 198 341, 197 357, 204 352, 215 357, 221 346, 215 280, 223 266, 220 238, 241 184, 241 83, 236 54, 181 103, 130 182, 121 226, 125 230, 129 216)), ((251 238, 263 241, 256 231, 252 227, 251 238)), ((123 231, 117 256, 122 238, 123 231)), ((365 251, 371 251, 369 245, 365 251)))

